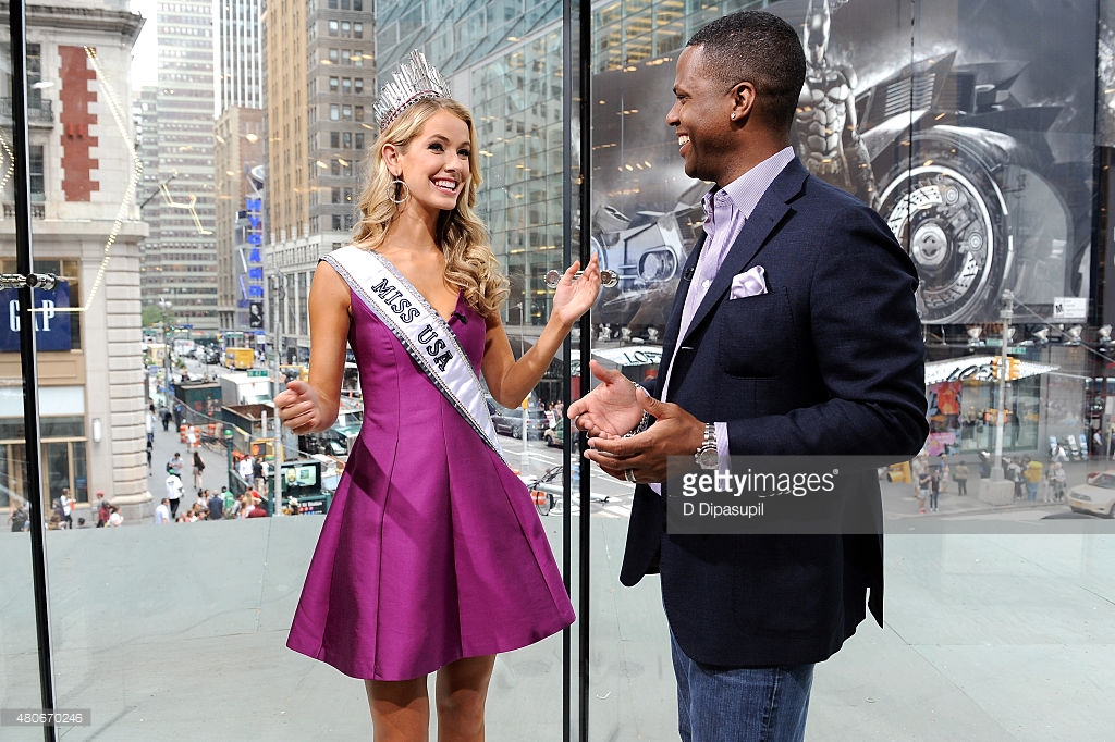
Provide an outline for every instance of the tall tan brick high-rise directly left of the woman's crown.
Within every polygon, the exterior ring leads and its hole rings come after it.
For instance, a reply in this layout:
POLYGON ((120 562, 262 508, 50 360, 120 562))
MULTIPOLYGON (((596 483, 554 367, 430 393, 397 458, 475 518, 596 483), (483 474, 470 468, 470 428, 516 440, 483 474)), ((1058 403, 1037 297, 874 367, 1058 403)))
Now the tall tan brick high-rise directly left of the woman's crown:
POLYGON ((263 14, 269 328, 282 328, 287 362, 309 360, 310 281, 318 258, 348 242, 376 138, 372 18, 371 0, 280 0, 263 14))

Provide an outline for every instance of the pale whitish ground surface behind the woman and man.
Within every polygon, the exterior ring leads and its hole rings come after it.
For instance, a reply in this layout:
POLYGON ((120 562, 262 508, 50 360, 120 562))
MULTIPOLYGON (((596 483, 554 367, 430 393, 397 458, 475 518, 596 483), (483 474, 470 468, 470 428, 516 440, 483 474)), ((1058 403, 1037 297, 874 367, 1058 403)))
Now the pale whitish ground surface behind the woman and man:
MULTIPOLYGON (((807 739, 1115 739, 1115 536, 1094 524, 888 536, 886 626, 863 624, 818 667, 807 739)), ((561 520, 545 525, 560 560, 561 520)), ((676 740, 657 582, 621 587, 627 524, 591 526, 589 736, 676 740)), ((284 647, 319 527, 49 533, 56 695, 93 719, 61 739, 370 739, 362 684, 284 647)), ((39 705, 29 551, 26 534, 0 534, 4 709, 39 705)), ((488 740, 561 740, 561 683, 560 635, 501 656, 488 740)))

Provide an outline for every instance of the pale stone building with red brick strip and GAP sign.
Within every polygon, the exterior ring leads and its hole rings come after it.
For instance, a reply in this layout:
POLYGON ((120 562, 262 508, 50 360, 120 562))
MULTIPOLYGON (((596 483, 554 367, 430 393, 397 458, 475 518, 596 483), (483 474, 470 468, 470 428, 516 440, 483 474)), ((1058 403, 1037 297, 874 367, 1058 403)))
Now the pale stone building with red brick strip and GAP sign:
MULTIPOLYGON (((7 18, 7 13, 6 13, 7 18)), ((140 352, 139 162, 128 71, 143 19, 123 0, 27 10, 31 238, 43 506, 64 487, 80 504, 96 490, 125 509, 149 499, 140 352)), ((11 55, 8 27, 2 31, 11 55)), ((0 272, 16 272, 11 76, 0 76, 0 272)), ((18 295, 2 292, 0 507, 26 496, 26 426, 18 295)), ((7 507, 4 507, 7 510, 7 507)))

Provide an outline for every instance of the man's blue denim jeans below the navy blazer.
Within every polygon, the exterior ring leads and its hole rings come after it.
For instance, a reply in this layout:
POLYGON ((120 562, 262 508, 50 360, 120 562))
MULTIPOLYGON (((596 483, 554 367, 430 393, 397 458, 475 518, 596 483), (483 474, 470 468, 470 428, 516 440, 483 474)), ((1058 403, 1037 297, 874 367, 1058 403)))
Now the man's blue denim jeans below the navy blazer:
POLYGON ((813 665, 718 667, 686 656, 670 632, 682 742, 799 742, 813 665))

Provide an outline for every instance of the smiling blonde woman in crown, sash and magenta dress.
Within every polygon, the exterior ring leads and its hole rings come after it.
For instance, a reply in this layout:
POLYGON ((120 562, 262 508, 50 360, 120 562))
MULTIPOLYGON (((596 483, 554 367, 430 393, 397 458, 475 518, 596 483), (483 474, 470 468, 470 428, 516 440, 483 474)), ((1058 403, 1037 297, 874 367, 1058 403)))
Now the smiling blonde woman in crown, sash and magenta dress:
POLYGON ((432 672, 439 739, 483 739, 496 653, 574 619, 477 374, 518 406, 595 301, 600 269, 593 256, 580 277, 578 263, 565 272, 516 361, 500 321, 505 280, 473 211, 472 116, 447 95, 417 53, 385 88, 352 244, 319 263, 310 290, 310 379, 275 398, 294 432, 328 429, 351 346, 363 426, 288 645, 366 681, 377 740, 427 739, 432 672))

